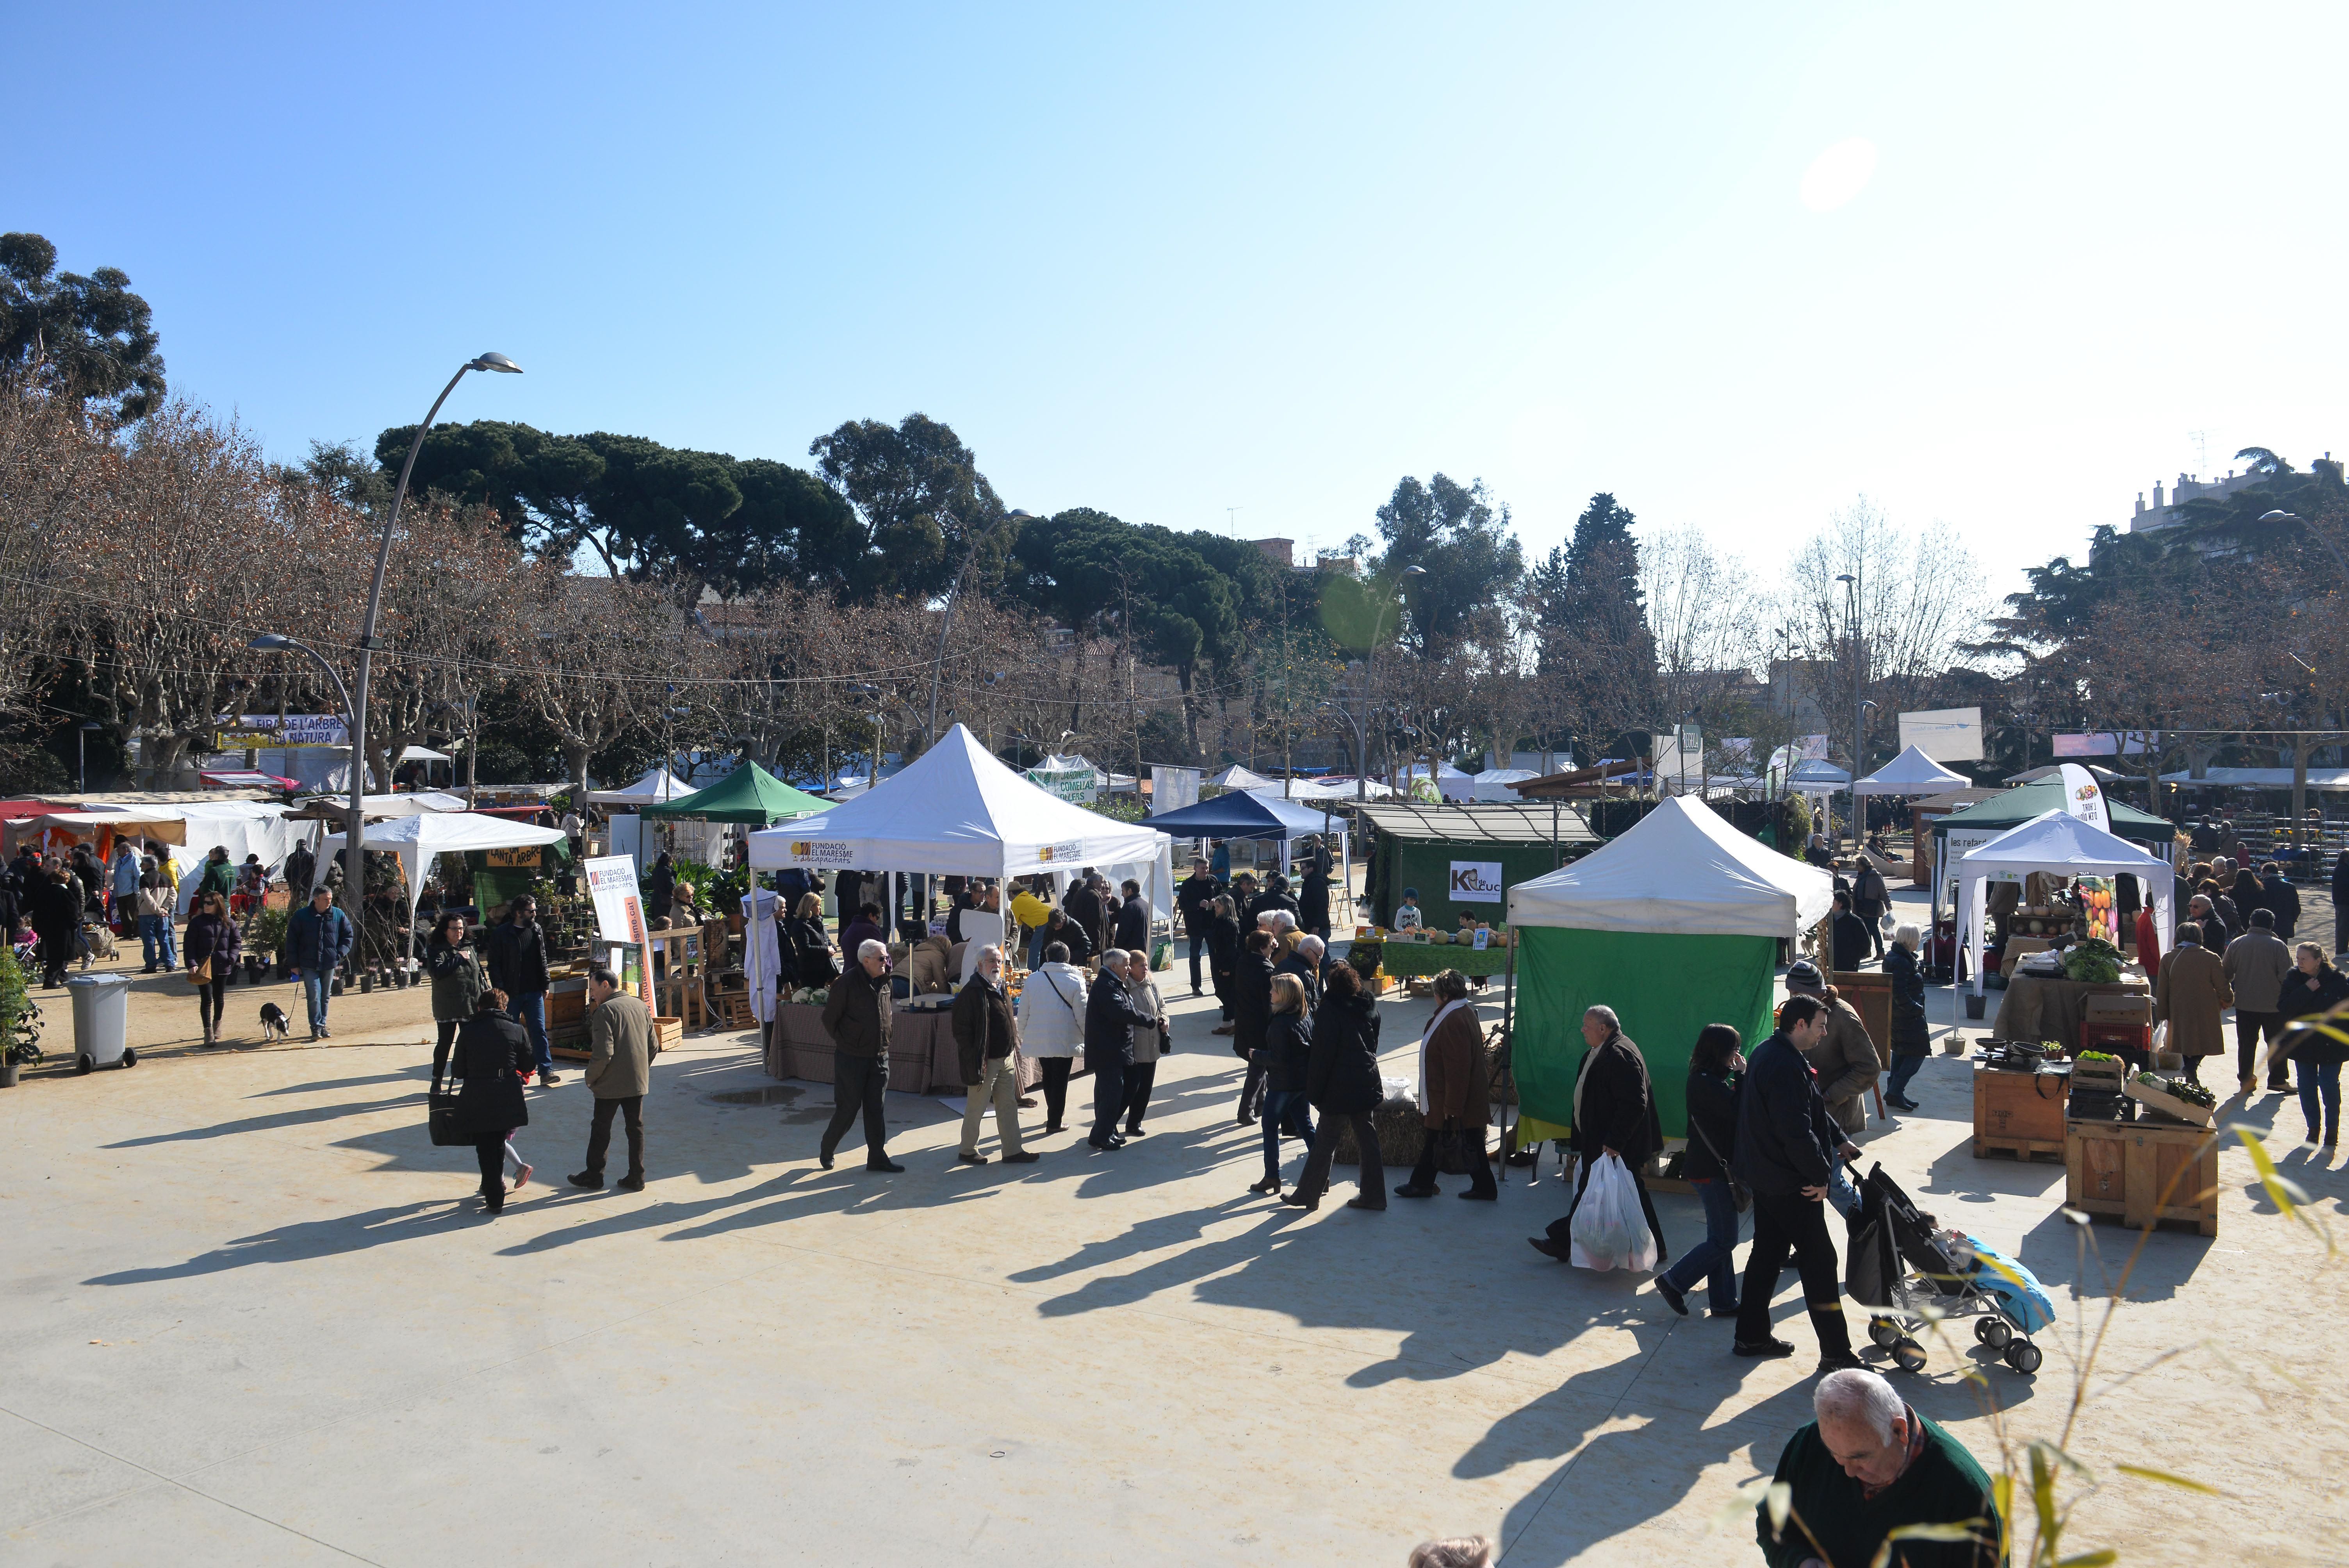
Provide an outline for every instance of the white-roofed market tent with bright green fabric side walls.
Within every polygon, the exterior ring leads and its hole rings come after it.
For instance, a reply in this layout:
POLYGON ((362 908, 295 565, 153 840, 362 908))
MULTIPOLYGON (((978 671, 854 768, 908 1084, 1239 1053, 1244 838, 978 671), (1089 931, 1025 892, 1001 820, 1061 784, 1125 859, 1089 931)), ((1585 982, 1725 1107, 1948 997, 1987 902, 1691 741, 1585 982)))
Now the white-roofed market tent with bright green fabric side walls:
POLYGON ((1647 1056, 1668 1138, 1687 1136, 1689 1049, 1705 1023, 1771 1030, 1778 944, 1828 918, 1835 878, 1778 854, 1687 796, 1508 894, 1517 1143, 1574 1122, 1583 1014, 1614 1007, 1647 1056))

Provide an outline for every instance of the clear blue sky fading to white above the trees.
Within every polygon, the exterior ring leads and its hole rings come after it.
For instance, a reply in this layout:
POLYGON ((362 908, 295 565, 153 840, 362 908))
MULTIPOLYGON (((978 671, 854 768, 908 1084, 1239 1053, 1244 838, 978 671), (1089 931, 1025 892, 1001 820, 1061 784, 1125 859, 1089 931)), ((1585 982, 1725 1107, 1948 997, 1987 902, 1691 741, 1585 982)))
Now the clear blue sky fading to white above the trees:
POLYGON ((2340 7, 28 5, 9 47, 0 228, 127 270, 284 458, 496 347, 529 376, 453 418, 806 462, 921 408, 1031 512, 1334 545, 1442 469, 1529 554, 1607 488, 1762 568, 1865 491, 2011 587, 2156 479, 2349 451, 2340 7))

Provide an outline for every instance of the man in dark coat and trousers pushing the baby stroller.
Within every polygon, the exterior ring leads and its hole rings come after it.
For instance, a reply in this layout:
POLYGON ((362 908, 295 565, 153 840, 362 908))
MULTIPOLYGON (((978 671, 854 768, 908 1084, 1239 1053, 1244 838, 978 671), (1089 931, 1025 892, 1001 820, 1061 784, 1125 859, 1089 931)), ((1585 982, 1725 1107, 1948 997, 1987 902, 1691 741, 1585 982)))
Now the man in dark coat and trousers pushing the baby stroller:
POLYGON ((1769 1303, 1792 1251, 1811 1329, 1818 1333, 1818 1366, 1837 1371, 1858 1366, 1858 1357, 1851 1354, 1835 1242, 1828 1237, 1828 1171, 1837 1153, 1858 1160, 1860 1150, 1828 1115, 1818 1073, 1806 1059, 1825 1030, 1828 1012, 1818 998, 1788 998, 1778 1007, 1778 1033, 1745 1063, 1738 1145, 1729 1164, 1752 1192, 1755 1244, 1738 1284, 1738 1336, 1731 1350, 1741 1357, 1795 1354, 1788 1340, 1769 1331, 1769 1303))

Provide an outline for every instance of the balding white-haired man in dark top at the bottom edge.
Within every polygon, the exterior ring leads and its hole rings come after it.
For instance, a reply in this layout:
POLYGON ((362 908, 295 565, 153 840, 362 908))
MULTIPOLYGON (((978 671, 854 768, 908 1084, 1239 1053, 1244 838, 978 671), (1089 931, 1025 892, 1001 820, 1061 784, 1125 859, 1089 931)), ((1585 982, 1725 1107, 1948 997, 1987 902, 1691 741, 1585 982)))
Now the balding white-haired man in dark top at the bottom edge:
POLYGON ((1990 1476, 1966 1446, 1912 1411, 1865 1368, 1832 1371, 1811 1392, 1811 1425, 1788 1439, 1776 1481, 1792 1488, 1785 1528, 1755 1509, 1769 1568, 1875 1563, 1889 1568, 1997 1568, 2004 1521, 1990 1476), (1802 1528, 1795 1521, 1802 1521, 1802 1528), (1891 1540, 1903 1526, 1966 1526, 1968 1540, 1891 1540))

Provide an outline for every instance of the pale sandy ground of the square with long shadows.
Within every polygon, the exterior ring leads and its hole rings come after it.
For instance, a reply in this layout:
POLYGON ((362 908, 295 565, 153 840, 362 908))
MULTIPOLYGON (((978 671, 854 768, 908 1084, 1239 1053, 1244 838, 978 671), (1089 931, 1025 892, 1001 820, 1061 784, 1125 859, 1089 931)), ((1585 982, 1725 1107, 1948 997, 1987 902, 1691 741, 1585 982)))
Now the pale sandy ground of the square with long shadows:
MULTIPOLYGON (((291 986, 263 995, 298 1016, 291 986)), ((233 1023, 261 1002, 230 998, 233 1023)), ((1428 1005, 1384 1012, 1409 1075, 1428 1005)), ((559 1185, 587 1122, 568 1077, 533 1094, 540 1174, 498 1221, 470 1150, 425 1138, 423 993, 341 998, 324 1047, 204 1052, 193 1021, 183 984, 141 981, 139 1068, 0 1094, 5 1561, 1400 1563, 1487 1530, 1508 1563, 1748 1563, 1750 1523, 1717 1514, 1809 1418, 1809 1354, 1738 1361, 1644 1279, 1534 1256, 1564 1207, 1548 1162, 1499 1204, 1384 1216, 1243 1192, 1257 1136, 1210 1005, 1177 1005, 1130 1150, 958 1169, 954 1117, 890 1096, 890 1178, 853 1148, 822 1171, 829 1089, 700 1035, 655 1068, 641 1197, 559 1185)), ((2058 1432, 2105 1277, 2081 1246, 2131 1237, 2067 1225, 2060 1167, 1971 1157, 1961 1059, 1914 1094, 1870 1157, 2062 1312, 2034 1380, 1971 1333, 1900 1378, 1992 1458, 1966 1373, 2011 1434, 2058 1432)), ((2283 1106, 2225 1113, 2290 1136, 2283 1106)), ((2283 1164, 2340 1225, 2342 1162, 2283 1164)), ((2105 1486, 2069 1549, 2342 1561, 2342 1265, 2239 1148, 2220 1174, 2220 1235, 2156 1235, 2114 1322, 2074 1437, 2105 1486)), ((1658 1202, 1687 1246, 1694 1199, 1658 1202)))

